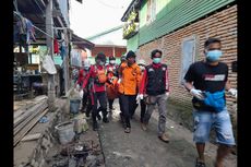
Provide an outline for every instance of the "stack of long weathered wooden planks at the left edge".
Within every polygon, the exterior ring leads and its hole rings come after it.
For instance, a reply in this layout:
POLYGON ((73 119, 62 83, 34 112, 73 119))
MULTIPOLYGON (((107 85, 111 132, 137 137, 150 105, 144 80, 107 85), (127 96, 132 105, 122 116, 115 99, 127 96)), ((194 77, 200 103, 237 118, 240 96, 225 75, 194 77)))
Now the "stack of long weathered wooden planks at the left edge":
POLYGON ((48 112, 47 98, 44 95, 37 96, 28 105, 14 110, 14 146, 48 112))

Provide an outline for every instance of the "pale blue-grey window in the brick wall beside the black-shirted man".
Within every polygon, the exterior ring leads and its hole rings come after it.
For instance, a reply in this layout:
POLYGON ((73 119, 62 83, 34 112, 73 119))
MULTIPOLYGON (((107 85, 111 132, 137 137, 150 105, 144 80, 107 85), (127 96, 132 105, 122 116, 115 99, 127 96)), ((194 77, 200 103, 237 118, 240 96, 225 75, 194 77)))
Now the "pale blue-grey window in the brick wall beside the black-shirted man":
POLYGON ((194 62, 195 58, 196 40, 195 36, 184 38, 182 41, 181 52, 181 70, 180 70, 180 84, 183 82, 183 77, 190 67, 194 62))

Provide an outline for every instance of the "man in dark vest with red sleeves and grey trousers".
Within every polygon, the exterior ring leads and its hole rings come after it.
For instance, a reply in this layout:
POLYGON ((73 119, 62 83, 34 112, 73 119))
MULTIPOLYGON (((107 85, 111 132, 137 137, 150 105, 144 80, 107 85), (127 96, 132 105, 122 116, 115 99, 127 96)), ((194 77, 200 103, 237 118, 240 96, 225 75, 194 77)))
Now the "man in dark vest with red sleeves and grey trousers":
POLYGON ((168 143, 169 139, 165 133, 166 129, 166 99, 169 96, 169 82, 167 65, 162 63, 162 50, 155 49, 151 53, 153 63, 145 68, 140 86, 140 98, 146 97, 147 109, 143 118, 142 129, 146 130, 146 124, 150 121, 151 115, 158 106, 158 138, 168 143))

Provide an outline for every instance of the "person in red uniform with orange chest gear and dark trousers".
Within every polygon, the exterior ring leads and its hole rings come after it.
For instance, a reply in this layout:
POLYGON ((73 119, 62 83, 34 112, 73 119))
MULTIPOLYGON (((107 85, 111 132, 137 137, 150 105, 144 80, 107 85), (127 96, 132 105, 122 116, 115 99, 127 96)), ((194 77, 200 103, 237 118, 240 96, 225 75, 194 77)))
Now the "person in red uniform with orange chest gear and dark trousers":
POLYGON ((91 95, 92 95, 92 104, 93 104, 93 130, 96 131, 98 129, 97 124, 97 102, 99 102, 99 105, 101 107, 103 112, 103 121, 109 122, 107 118, 107 96, 106 96, 106 86, 105 83, 107 82, 106 76, 106 56, 103 52, 99 52, 97 57, 95 58, 96 63, 94 65, 91 65, 89 73, 87 74, 86 79, 83 83, 84 92, 86 92, 86 85, 89 82, 91 84, 91 95))

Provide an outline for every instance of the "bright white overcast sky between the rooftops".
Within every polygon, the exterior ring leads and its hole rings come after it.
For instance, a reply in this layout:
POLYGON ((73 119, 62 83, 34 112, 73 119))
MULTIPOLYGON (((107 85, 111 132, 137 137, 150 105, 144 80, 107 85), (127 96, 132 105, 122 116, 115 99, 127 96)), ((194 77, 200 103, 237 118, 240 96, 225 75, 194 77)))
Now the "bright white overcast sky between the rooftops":
POLYGON ((70 0, 70 27, 86 38, 121 25, 120 19, 132 0, 70 0))

